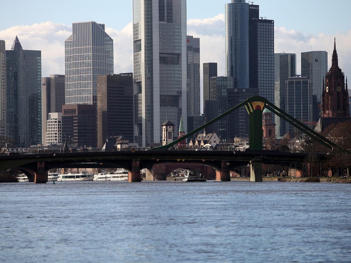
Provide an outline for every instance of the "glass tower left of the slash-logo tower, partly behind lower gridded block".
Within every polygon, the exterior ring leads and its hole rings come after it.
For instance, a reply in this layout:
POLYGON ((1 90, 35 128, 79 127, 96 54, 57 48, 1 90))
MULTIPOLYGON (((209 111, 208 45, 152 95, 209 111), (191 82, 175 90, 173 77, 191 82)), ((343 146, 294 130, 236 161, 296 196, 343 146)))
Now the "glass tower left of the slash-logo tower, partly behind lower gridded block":
MULTIPOLYGON (((274 54, 274 104, 285 110, 285 82, 289 77, 296 75, 296 54, 276 53, 274 54)), ((286 123, 276 116, 276 136, 286 134, 286 123)))

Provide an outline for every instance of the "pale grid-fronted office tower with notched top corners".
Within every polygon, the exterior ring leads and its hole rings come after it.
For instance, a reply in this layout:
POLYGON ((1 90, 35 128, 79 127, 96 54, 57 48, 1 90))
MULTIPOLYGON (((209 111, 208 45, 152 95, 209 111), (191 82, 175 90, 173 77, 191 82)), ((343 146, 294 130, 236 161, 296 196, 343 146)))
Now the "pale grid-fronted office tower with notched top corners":
POLYGON ((72 29, 65 41, 66 104, 97 104, 97 76, 113 74, 113 40, 93 21, 72 29))

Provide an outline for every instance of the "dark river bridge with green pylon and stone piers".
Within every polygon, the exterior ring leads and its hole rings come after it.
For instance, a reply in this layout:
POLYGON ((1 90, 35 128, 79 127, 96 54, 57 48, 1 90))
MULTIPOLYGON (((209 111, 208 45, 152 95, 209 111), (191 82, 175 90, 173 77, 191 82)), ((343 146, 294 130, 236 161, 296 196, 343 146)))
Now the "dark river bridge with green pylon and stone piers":
MULTIPOLYGON (((34 172, 35 183, 47 182, 47 171, 62 167, 80 168, 124 168, 129 171, 129 182, 140 182, 140 170, 151 169, 158 163, 202 163, 216 170, 216 181, 230 181, 230 170, 243 165, 250 165, 251 181, 262 182, 262 164, 278 164, 300 167, 306 160, 305 152, 284 153, 277 150, 263 150, 262 113, 268 108, 272 113, 303 131, 312 139, 322 143, 327 148, 345 151, 322 135, 311 130, 303 123, 286 114, 274 104, 260 96, 251 97, 236 107, 205 123, 172 143, 153 149, 128 149, 120 151, 92 150, 74 153, 21 153, 19 155, 0 156, 0 170, 17 167, 22 171, 34 172), (240 107, 245 107, 249 114, 250 149, 246 151, 226 150, 192 150, 173 148, 200 130, 229 115, 240 107)), ((317 154, 320 162, 328 158, 326 154, 317 154)))

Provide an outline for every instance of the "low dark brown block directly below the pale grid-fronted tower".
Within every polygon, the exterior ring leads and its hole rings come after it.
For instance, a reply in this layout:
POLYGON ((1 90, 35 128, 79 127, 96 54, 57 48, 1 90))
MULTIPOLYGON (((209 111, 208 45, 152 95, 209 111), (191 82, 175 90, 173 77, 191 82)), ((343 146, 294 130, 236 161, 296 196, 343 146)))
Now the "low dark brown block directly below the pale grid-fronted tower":
POLYGON ((96 147, 96 105, 62 106, 62 141, 77 147, 96 147))

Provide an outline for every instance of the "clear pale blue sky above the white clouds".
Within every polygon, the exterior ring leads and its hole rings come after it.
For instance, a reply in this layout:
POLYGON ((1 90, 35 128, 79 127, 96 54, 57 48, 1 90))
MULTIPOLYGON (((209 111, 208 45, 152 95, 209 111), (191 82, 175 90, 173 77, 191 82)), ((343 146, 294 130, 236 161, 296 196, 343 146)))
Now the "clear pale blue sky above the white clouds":
MULTIPOLYGON (((204 19, 224 13, 230 0, 187 0, 188 19, 204 19)), ((132 0, 6 1, 0 17, 0 30, 16 26, 52 21, 66 25, 78 21, 97 21, 107 27, 122 29, 132 19, 132 0), (97 5, 98 2, 98 5, 97 5), (67 6, 68 5, 68 6, 67 6)), ((305 34, 345 33, 350 30, 350 0, 258 0, 260 15, 275 20, 277 27, 305 34)))

